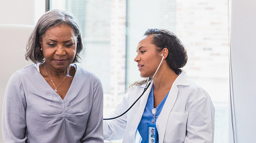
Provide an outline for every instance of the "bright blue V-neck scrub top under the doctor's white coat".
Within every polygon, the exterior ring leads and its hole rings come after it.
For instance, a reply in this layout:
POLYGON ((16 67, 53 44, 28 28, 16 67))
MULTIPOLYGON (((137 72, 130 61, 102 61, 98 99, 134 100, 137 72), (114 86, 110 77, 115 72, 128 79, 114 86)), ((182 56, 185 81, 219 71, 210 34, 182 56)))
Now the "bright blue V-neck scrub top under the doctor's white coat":
MULTIPOLYGON (((165 98, 161 101, 161 103, 158 104, 158 106, 156 107, 157 114, 155 116, 155 122, 157 121, 157 118, 161 113, 161 110, 165 104, 168 94, 169 94, 169 92, 167 93, 165 98)), ((155 122, 152 122, 154 115, 151 113, 151 111, 153 108, 154 108, 154 85, 152 86, 151 91, 149 93, 149 98, 148 98, 144 113, 142 115, 141 121, 137 128, 138 132, 140 133, 140 136, 142 137, 141 143, 147 143, 147 141, 148 141, 148 138, 147 138, 148 137, 148 124, 155 125, 155 122)), ((157 130, 156 130, 156 132, 157 132, 157 130)), ((159 143, 158 132, 157 132, 156 139, 157 139, 156 143, 159 143)))

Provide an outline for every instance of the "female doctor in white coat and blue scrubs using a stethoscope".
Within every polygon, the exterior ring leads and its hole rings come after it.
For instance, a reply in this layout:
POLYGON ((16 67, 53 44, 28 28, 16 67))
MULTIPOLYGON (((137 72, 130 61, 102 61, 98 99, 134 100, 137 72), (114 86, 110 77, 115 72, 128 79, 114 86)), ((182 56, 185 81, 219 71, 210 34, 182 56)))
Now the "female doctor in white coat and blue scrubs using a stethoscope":
POLYGON ((148 29, 137 45, 134 61, 140 76, 149 77, 152 83, 144 80, 132 85, 109 117, 125 112, 146 84, 149 88, 125 115, 104 121, 104 139, 123 138, 123 143, 213 143, 214 106, 208 93, 181 70, 187 54, 179 38, 165 29, 148 29))

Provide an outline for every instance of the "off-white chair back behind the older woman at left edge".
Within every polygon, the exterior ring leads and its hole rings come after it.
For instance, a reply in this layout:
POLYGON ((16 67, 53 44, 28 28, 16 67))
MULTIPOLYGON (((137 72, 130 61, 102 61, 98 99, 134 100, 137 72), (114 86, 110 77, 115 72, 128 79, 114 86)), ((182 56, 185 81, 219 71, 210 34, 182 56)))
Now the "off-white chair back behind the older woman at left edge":
MULTIPOLYGON (((32 25, 0 24, 0 115, 2 116, 2 102, 6 84, 12 73, 31 64, 25 60, 26 43, 32 32, 32 25)), ((2 125, 0 118, 0 129, 2 125)), ((2 143, 0 133, 0 143, 2 143)))

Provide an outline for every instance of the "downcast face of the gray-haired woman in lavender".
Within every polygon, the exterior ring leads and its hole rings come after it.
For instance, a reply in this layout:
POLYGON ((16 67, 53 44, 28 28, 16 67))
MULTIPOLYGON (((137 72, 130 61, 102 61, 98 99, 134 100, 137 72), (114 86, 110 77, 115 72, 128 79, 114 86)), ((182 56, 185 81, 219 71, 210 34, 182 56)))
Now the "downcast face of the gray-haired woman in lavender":
POLYGON ((51 70, 65 71, 75 58, 77 37, 70 26, 49 28, 40 44, 45 63, 51 70))

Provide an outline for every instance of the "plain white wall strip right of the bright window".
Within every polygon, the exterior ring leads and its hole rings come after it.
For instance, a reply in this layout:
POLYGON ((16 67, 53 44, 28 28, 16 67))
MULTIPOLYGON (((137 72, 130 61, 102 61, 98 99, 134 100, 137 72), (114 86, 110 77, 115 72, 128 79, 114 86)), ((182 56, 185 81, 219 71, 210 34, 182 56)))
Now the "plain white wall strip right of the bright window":
POLYGON ((231 64, 235 143, 256 143, 255 0, 232 0, 231 64))

